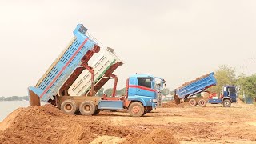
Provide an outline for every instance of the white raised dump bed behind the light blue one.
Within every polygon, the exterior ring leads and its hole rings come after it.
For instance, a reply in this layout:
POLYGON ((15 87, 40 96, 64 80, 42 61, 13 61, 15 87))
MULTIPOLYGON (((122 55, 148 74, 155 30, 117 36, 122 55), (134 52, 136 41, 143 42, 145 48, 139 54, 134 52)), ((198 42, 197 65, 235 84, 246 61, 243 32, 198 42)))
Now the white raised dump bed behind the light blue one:
MULTIPOLYGON (((102 87, 109 78, 109 74, 122 65, 121 58, 114 53, 114 50, 107 48, 104 53, 99 56, 92 64, 94 70, 94 83, 95 88, 102 87), (106 79, 106 81, 102 81, 106 79)), ((83 70, 82 74, 74 81, 68 90, 68 94, 71 96, 82 96, 88 94, 91 88, 91 74, 89 70, 83 70)), ((95 90, 97 91, 97 90, 95 90)))

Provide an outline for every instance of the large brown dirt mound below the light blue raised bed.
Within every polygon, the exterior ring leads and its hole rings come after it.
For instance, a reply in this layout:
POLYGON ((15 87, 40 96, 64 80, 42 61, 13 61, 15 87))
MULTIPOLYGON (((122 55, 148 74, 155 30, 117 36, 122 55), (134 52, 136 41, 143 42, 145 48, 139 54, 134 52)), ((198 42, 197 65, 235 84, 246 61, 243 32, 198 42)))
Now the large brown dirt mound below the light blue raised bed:
POLYGON ((136 133, 103 119, 63 114, 52 105, 19 108, 0 122, 0 143, 90 143, 105 135, 120 140, 136 133))

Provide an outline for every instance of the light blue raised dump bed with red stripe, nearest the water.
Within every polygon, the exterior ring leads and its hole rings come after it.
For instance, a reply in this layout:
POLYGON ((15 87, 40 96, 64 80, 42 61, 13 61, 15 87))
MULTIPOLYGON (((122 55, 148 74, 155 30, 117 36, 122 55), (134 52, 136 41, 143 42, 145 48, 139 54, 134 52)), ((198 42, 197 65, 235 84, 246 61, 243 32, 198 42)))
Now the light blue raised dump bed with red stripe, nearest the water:
POLYGON ((50 98, 53 99, 53 96, 58 94, 59 88, 66 82, 75 67, 79 66, 82 57, 99 45, 98 41, 86 31, 87 29, 83 25, 78 24, 73 31, 74 38, 70 44, 46 70, 46 73, 39 79, 36 86, 29 87, 30 99, 34 96, 38 96, 42 101, 46 102, 50 98))

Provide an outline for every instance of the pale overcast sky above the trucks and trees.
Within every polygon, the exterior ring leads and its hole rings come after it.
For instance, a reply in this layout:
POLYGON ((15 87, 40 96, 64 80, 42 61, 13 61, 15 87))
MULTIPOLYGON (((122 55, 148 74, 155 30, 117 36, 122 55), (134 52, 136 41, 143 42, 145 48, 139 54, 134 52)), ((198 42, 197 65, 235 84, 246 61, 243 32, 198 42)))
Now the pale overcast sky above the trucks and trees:
POLYGON ((114 72, 119 89, 135 73, 164 78, 170 90, 222 65, 254 74, 255 6, 253 0, 1 0, 0 95, 27 95, 78 23, 125 62, 114 72))

